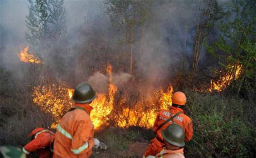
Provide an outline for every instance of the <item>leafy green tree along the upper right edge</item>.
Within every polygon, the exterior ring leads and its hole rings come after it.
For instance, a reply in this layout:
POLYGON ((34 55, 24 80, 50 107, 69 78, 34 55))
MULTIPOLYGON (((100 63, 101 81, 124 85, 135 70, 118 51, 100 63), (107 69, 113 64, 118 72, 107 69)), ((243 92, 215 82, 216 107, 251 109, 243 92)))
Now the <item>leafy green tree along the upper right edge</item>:
POLYGON ((238 96, 255 100, 256 75, 256 2, 227 2, 227 16, 221 19, 219 38, 208 45, 208 52, 219 59, 221 66, 229 69, 235 79, 237 69, 242 68, 239 79, 232 83, 232 90, 238 96), (230 65, 232 65, 230 67, 230 65))

